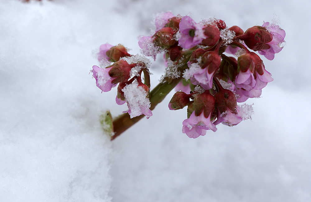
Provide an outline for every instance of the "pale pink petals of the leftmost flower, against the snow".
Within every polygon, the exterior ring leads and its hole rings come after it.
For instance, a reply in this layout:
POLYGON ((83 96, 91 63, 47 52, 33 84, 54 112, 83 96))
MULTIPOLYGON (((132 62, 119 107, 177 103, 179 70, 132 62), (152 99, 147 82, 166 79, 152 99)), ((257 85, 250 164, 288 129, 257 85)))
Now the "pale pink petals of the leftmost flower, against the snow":
POLYGON ((92 72, 96 80, 96 86, 104 92, 110 91, 112 87, 117 85, 116 83, 111 83, 115 79, 115 77, 109 76, 109 71, 111 68, 113 67, 102 69, 96 65, 93 66, 92 72))

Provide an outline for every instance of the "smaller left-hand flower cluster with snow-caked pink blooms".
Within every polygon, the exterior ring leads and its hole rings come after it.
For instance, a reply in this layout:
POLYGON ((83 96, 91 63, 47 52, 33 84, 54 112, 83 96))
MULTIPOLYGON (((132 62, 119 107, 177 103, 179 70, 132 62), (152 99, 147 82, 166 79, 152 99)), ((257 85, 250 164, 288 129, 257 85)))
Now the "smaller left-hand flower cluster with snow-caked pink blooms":
POLYGON ((93 66, 91 72, 96 80, 96 86, 102 92, 108 92, 118 84, 116 103, 123 105, 127 102, 128 112, 131 118, 146 115, 152 116, 149 101, 149 60, 136 55, 130 55, 123 45, 103 44, 100 46, 98 61, 102 64, 113 64, 100 68, 93 66), (145 83, 142 82, 142 72, 145 83))

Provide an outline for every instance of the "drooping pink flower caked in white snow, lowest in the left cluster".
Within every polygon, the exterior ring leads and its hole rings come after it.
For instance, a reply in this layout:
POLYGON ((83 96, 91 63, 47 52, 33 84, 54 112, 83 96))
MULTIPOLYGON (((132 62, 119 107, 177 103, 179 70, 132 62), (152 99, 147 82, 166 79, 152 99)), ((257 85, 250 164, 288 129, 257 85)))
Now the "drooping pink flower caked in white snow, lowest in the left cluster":
POLYGON ((133 83, 125 86, 122 91, 124 92, 125 100, 128 104, 128 114, 131 118, 146 115, 147 118, 152 116, 150 108, 150 101, 147 98, 146 90, 138 86, 138 82, 135 80, 133 83))

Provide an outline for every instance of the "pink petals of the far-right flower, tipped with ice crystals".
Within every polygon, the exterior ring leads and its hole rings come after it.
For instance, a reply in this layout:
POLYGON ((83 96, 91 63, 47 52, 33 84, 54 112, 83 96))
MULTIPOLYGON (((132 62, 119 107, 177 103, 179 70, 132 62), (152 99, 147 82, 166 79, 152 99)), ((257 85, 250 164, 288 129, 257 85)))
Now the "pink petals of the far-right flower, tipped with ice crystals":
POLYGON ((270 24, 265 22, 262 25, 267 28, 267 31, 272 34, 272 41, 267 44, 270 45, 269 49, 259 50, 259 54, 264 55, 268 60, 274 59, 274 54, 279 53, 285 45, 285 31, 280 28, 278 25, 270 24))

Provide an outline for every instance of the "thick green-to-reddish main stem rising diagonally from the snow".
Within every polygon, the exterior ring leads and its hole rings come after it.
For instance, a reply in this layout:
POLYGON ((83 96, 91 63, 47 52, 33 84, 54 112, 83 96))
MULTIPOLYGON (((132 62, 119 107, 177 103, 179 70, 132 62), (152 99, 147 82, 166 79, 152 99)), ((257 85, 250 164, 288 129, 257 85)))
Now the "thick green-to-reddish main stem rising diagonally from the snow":
MULTIPOLYGON (((177 64, 179 66, 180 72, 184 72, 184 70, 188 68, 187 62, 189 61, 190 55, 191 54, 185 56, 184 59, 177 64)), ((151 104, 150 110, 153 110, 156 105, 159 104, 165 98, 165 96, 174 89, 174 87, 180 82, 181 79, 181 76, 174 79, 167 76, 163 79, 164 82, 159 83, 154 89, 152 89, 152 91, 149 93, 149 100, 151 104)), ((111 136, 111 140, 118 137, 129 127, 141 120, 144 116, 145 115, 140 115, 132 119, 128 113, 124 113, 118 116, 113 120, 114 135, 111 136)))

